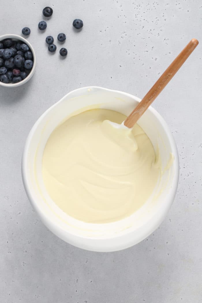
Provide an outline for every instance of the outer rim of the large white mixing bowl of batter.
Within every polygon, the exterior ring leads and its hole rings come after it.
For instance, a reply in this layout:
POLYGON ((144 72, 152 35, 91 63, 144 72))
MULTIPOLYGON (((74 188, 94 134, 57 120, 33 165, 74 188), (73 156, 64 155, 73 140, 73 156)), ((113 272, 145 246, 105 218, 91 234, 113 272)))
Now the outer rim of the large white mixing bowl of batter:
MULTIPOLYGON (((27 181, 28 178, 27 178, 26 163, 27 163, 27 157, 28 157, 28 150, 29 150, 29 145, 30 145, 31 140, 32 140, 32 136, 33 136, 36 128, 38 127, 38 124, 41 122, 41 120, 47 115, 47 113, 52 108, 54 108, 55 106, 58 105, 58 103, 62 102, 65 98, 67 98, 69 94, 74 95, 75 93, 78 93, 79 91, 81 91, 81 92, 83 90, 86 91, 89 88, 90 89, 91 88, 92 89, 98 89, 98 90, 101 90, 101 91, 109 91, 109 92, 119 93, 119 94, 122 94, 124 96, 128 96, 130 98, 133 98, 137 102, 141 101, 140 98, 137 98, 134 95, 131 95, 131 94, 128 94, 128 93, 125 93, 125 92, 121 92, 121 91, 117 91, 117 90, 113 90, 113 89, 102 88, 102 87, 98 87, 98 86, 82 87, 82 88, 75 89, 75 90, 69 92, 68 94, 66 94, 58 102, 56 102, 51 107, 49 107, 38 118, 38 120, 35 122, 35 124, 31 128, 31 131, 29 132, 28 137, 26 139, 24 151, 23 151, 23 154, 22 154, 22 181, 23 181, 25 192, 28 196, 28 199, 31 202, 31 205, 33 206, 33 208, 38 213, 42 222, 55 235, 57 235, 59 238, 61 238, 62 240, 66 241, 66 242, 68 242, 72 245, 75 245, 76 247, 91 250, 91 251, 103 251, 103 252, 118 251, 118 250, 121 250, 121 249, 131 247, 131 246, 141 242, 145 238, 147 238, 162 223, 162 221, 164 220, 165 216, 167 215, 167 212, 169 211, 169 209, 170 209, 170 207, 171 207, 171 205, 174 201, 174 197, 176 195, 178 180, 179 180, 179 155, 178 155, 178 151, 177 151, 177 145, 176 145, 174 137, 173 137, 167 123, 165 122, 165 120, 162 118, 162 116, 154 108, 152 108, 150 106, 147 110, 151 111, 154 114, 154 116, 159 120, 162 127, 164 128, 165 133, 167 134, 167 137, 168 137, 169 142, 171 144, 171 150, 174 153, 174 163, 173 163, 173 165, 174 165, 175 173, 174 173, 174 177, 173 177, 173 180, 172 180, 172 188, 168 193, 167 203, 165 203, 165 205, 164 205, 164 211, 162 211, 161 214, 156 216, 156 220, 153 220, 153 218, 151 218, 150 221, 147 221, 147 226, 149 225, 149 227, 146 228, 146 232, 142 232, 142 235, 139 237, 138 241, 133 241, 133 239, 130 240, 130 238, 132 238, 131 235, 134 233, 134 231, 132 231, 132 230, 128 230, 127 234, 114 235, 114 237, 111 237, 111 238, 98 238, 98 237, 97 238, 96 237, 91 238, 91 237, 85 237, 85 236, 82 236, 82 235, 72 234, 68 230, 64 231, 61 228, 61 226, 58 225, 56 220, 54 221, 54 220, 50 219, 46 213, 41 211, 41 208, 39 207, 38 202, 35 201, 34 197, 31 194, 31 191, 29 190, 29 182, 27 181), (150 223, 150 224, 148 224, 148 223, 150 223)), ((137 230, 135 232, 137 232, 137 230)))

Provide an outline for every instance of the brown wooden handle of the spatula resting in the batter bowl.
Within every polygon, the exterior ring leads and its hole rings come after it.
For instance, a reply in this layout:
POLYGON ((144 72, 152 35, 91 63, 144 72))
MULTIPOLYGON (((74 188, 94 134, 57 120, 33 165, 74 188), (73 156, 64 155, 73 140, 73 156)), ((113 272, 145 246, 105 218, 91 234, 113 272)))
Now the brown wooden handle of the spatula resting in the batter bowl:
POLYGON ((168 82, 173 78, 178 69, 187 60, 189 55, 198 45, 197 39, 191 39, 187 46, 180 52, 180 54, 174 59, 171 65, 166 69, 166 71, 161 75, 157 82, 152 86, 150 91, 144 96, 141 102, 137 105, 133 112, 127 117, 124 125, 128 128, 133 127, 137 120, 144 114, 146 109, 151 105, 151 103, 156 99, 168 82))

